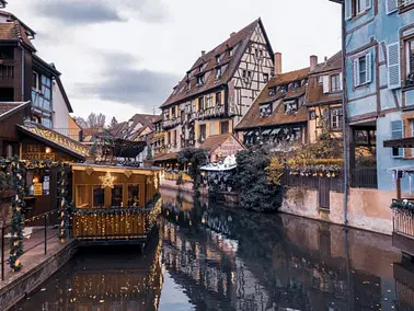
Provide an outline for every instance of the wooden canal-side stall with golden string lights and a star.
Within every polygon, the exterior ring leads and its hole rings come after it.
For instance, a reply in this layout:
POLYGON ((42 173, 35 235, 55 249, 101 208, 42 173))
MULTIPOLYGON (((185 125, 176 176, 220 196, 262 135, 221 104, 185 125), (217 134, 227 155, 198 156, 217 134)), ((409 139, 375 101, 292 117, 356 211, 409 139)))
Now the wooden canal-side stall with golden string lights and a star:
POLYGON ((143 245, 161 212, 162 170, 73 164, 73 237, 87 244, 143 245))

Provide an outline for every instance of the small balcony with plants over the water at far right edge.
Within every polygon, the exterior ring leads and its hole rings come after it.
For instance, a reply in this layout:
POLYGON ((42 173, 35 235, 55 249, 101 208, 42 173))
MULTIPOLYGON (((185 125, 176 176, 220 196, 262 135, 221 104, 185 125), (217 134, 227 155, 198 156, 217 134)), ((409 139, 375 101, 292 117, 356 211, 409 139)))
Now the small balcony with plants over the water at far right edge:
POLYGON ((393 199, 393 245, 414 256, 414 199, 393 199))

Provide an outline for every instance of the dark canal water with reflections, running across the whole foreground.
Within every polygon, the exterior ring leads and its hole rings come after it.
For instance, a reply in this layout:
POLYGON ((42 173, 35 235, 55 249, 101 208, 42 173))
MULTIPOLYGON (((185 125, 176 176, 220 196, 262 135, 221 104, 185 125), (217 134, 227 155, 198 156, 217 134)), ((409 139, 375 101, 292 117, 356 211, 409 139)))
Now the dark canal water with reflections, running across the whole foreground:
POLYGON ((145 254, 83 250, 14 310, 414 310, 389 237, 163 199, 145 254))

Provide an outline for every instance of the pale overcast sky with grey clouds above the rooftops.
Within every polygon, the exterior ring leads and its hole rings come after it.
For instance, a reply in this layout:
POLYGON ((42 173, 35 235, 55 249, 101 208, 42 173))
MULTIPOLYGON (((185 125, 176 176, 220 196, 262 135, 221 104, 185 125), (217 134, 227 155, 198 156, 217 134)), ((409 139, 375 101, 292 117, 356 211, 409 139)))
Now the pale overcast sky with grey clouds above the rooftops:
POLYGON ((258 16, 284 71, 341 49, 341 7, 329 0, 9 0, 8 11, 36 31, 74 115, 107 120, 158 113, 203 49, 258 16))

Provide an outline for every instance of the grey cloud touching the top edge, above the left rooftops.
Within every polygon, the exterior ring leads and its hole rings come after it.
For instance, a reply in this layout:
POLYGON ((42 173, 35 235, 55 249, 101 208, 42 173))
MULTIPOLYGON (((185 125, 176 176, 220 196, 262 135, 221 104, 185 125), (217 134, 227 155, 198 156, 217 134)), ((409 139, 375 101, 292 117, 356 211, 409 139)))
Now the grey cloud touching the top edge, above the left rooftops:
POLYGON ((162 0, 43 0, 33 10, 38 15, 68 26, 126 22, 136 19, 148 23, 166 20, 166 5, 162 0))

